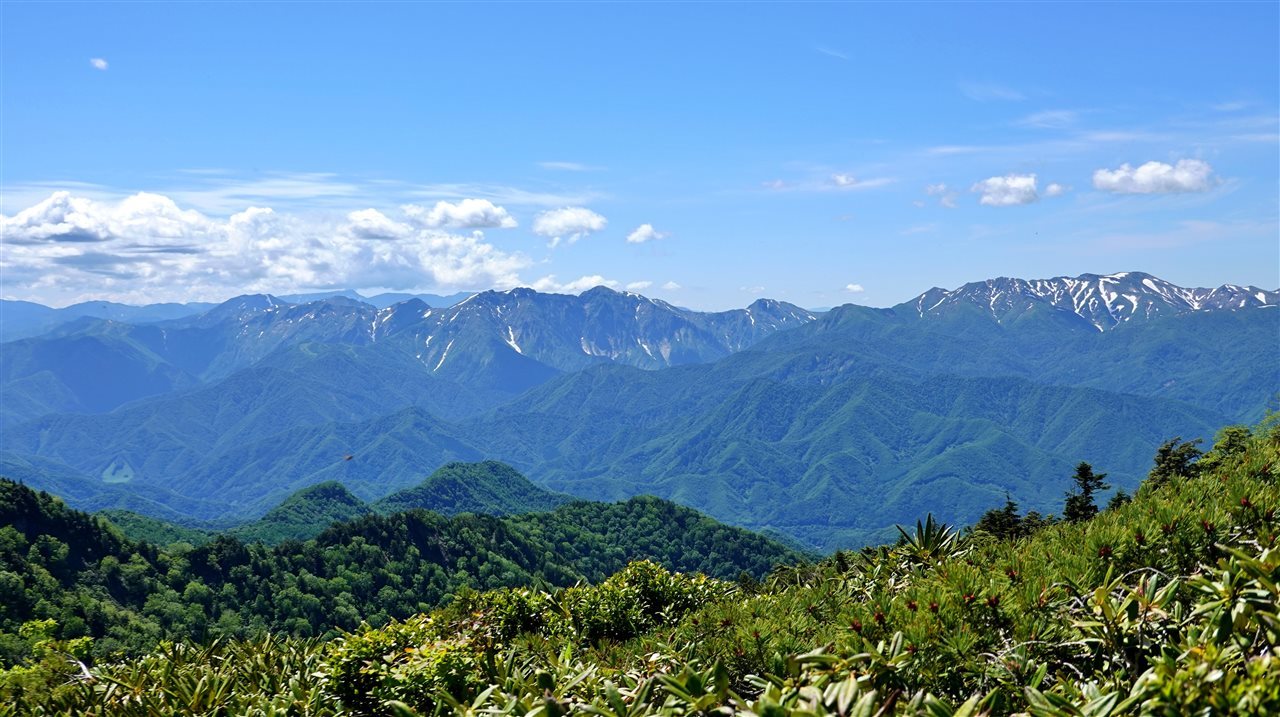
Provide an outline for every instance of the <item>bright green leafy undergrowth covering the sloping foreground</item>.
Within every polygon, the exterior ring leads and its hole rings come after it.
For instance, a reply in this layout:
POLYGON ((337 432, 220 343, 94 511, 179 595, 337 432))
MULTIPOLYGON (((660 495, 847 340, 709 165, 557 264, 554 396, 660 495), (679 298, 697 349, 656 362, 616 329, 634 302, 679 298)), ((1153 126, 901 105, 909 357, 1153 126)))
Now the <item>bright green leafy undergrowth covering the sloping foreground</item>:
POLYGON ((1280 430, 1199 466, 1023 538, 929 520, 763 583, 640 562, 329 641, 86 665, 28 622, 0 714, 1280 713, 1280 430))

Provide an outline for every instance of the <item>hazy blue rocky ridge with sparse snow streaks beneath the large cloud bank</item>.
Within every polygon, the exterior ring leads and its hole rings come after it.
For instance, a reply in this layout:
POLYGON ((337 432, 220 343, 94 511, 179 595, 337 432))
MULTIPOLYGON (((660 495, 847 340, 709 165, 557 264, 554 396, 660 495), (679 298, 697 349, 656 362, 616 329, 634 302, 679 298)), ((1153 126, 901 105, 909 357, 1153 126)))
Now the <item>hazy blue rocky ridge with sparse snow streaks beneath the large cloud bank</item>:
MULTIPOLYGON (((457 384, 451 393, 509 398, 600 362, 658 369, 712 361, 813 318, 773 301, 701 314, 603 287, 582 296, 483 292, 445 309, 417 298, 379 310, 347 296, 291 303, 248 294, 166 321, 81 318, 8 344, 0 357, 0 425, 110 411, 220 380, 302 344, 364 347, 366 356, 380 355, 380 364, 416 361, 433 378, 457 384)), ((490 405, 485 398, 474 408, 490 405)))

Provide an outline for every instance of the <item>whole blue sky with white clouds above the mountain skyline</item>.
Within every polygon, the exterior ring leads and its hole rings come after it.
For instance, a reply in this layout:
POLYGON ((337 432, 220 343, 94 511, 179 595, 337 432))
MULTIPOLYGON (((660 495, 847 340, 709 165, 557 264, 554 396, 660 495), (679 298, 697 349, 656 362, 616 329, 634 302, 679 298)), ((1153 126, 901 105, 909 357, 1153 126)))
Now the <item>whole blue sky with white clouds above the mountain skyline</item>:
POLYGON ((0 19, 5 298, 609 283, 722 309, 1085 271, 1280 286, 1275 3, 0 19))

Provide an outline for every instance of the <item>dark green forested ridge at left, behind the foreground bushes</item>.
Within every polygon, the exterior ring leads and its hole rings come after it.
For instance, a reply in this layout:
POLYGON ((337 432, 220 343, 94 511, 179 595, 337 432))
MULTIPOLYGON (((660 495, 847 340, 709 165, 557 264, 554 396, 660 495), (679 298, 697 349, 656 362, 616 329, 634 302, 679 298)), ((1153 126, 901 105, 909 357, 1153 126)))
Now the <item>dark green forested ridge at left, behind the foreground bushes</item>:
MULTIPOLYGON (((329 520, 315 506, 351 506, 340 487, 321 485, 278 515, 329 520), (323 498, 315 502, 315 498, 323 498)), ((369 513, 357 506, 357 513, 369 513)), ((104 519, 46 493, 0 481, 0 647, 3 659, 31 648, 22 625, 54 620, 65 639, 93 638, 95 654, 137 653, 161 639, 207 640, 266 631, 324 635, 404 618, 468 590, 572 585, 603 580, 632 560, 731 579, 763 576, 801 554, 768 538, 721 525, 689 508, 634 498, 570 503, 517 517, 442 516, 424 510, 364 515, 307 542, 278 545, 306 526, 262 521, 166 548, 134 542, 104 519)), ((315 524, 311 524, 315 525, 315 524)), ((138 529, 140 526, 133 526, 138 529)))

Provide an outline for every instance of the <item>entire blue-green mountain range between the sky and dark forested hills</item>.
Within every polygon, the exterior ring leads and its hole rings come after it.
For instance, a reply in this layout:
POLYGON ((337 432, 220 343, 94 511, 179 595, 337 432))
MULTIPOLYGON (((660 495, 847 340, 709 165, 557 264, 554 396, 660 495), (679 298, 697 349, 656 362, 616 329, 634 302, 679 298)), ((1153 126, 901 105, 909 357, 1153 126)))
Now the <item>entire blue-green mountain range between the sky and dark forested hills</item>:
POLYGON ((1006 493, 1055 512, 1080 460, 1133 487, 1162 440, 1256 420, 1280 389, 1277 303, 1124 273, 820 315, 598 287, 81 316, 3 346, 0 472, 91 510, 228 519, 492 458, 553 490, 850 545, 1006 493))

